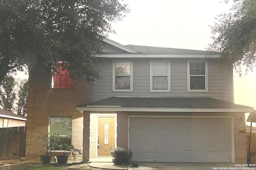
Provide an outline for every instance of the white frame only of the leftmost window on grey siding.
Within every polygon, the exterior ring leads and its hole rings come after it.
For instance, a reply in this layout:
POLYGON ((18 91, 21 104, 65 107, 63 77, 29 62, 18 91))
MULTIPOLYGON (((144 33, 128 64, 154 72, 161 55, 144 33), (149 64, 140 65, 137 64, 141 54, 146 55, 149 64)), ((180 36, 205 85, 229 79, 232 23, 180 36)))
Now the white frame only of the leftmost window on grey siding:
POLYGON ((132 92, 133 91, 133 64, 132 60, 113 60, 112 63, 112 91, 113 92, 132 92), (130 89, 116 89, 116 62, 130 62, 130 89))

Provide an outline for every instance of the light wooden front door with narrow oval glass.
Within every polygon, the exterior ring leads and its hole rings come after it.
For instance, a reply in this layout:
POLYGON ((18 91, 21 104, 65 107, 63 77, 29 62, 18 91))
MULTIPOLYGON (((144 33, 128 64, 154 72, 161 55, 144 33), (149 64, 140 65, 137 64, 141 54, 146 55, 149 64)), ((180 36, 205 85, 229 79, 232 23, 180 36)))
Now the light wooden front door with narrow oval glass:
POLYGON ((115 118, 98 118, 98 156, 111 156, 115 147, 115 118))

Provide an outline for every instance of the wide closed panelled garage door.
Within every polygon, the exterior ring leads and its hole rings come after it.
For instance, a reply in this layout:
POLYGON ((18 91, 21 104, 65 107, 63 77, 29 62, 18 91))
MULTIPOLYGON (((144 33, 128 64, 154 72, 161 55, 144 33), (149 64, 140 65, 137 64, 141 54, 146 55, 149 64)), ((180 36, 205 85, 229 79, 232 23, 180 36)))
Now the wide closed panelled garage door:
POLYGON ((132 161, 232 162, 231 118, 130 118, 132 161))

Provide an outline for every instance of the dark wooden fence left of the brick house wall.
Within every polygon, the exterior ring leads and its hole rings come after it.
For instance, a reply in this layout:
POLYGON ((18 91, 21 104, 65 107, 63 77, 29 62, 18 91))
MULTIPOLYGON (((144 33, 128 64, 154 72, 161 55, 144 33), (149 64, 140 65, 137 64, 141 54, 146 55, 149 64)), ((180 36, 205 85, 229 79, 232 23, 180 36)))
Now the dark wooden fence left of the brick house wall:
POLYGON ((0 128, 0 159, 20 159, 25 152, 25 126, 0 128))

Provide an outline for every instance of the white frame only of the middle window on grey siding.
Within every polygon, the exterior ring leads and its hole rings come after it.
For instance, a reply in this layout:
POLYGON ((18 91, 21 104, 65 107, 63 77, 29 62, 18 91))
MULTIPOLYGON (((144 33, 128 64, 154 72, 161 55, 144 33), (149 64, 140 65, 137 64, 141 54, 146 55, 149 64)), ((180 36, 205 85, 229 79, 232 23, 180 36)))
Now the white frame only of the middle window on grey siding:
MULTIPOLYGON (((170 86, 170 81, 171 81, 171 62, 170 60, 150 60, 150 92, 170 92, 171 86, 170 86), (168 75, 167 75, 167 89, 153 89, 153 71, 152 71, 152 63, 153 62, 167 62, 168 63, 168 75)), ((158 75, 161 76, 161 75, 158 75)), ((166 76, 166 75, 162 75, 166 76)))

